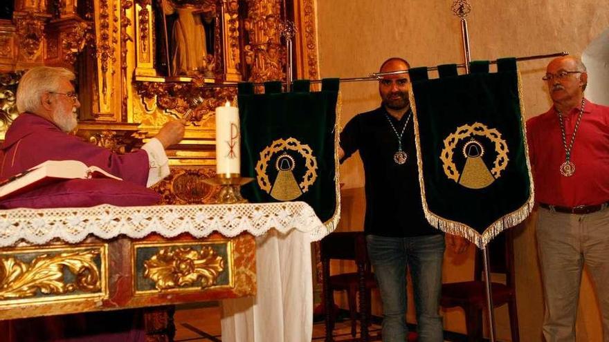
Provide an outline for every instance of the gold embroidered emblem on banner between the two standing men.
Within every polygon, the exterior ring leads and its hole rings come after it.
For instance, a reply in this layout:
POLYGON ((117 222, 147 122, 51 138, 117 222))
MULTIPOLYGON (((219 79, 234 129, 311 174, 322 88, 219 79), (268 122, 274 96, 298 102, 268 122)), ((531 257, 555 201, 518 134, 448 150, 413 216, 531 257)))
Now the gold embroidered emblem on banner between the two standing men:
POLYGON ((444 149, 440 154, 444 174, 448 179, 454 180, 457 184, 469 189, 483 189, 491 185, 501 176, 509 162, 507 158, 507 143, 501 139, 501 133, 497 129, 489 129, 480 122, 475 122, 471 126, 465 124, 457 127, 455 133, 451 133, 444 139, 444 149), (486 138, 486 139, 484 139, 486 138), (466 140, 466 142, 462 142, 466 140), (489 169, 484 162, 484 145, 492 144, 496 153, 493 168, 489 169), (457 146, 461 146, 463 158, 458 158, 457 164, 463 164, 461 172, 455 164, 454 151, 457 146))

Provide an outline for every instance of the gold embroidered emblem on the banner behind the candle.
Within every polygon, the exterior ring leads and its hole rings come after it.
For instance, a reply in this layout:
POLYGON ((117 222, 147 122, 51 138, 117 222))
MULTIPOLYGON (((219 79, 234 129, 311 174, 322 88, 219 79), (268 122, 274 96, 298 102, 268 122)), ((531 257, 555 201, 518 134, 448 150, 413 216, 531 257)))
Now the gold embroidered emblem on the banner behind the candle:
POLYGON ((317 179, 317 159, 307 144, 293 137, 278 139, 260 152, 256 163, 256 180, 260 189, 275 200, 295 200, 309 191, 317 179), (269 170, 269 162, 274 170, 269 170), (302 173, 302 167, 306 171, 302 173), (271 178, 275 180, 271 183, 271 178), (297 178, 300 178, 298 182, 297 178))

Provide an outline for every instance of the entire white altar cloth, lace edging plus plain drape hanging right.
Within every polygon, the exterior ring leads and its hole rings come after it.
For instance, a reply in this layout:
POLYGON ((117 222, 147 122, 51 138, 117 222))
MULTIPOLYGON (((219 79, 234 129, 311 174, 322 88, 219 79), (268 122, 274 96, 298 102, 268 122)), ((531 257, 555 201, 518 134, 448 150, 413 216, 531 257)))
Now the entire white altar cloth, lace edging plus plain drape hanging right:
POLYGON ((305 202, 241 205, 11 209, 0 211, 0 247, 79 243, 89 234, 197 238, 217 231, 256 236, 257 295, 222 301, 223 342, 311 341, 313 281, 311 242, 328 231, 305 202))

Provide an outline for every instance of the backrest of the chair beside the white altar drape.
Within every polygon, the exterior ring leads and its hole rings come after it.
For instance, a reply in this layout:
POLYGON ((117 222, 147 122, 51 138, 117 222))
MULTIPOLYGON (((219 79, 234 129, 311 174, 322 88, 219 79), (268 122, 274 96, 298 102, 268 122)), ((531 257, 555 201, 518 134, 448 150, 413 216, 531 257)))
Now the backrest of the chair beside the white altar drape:
MULTIPOLYGON (((320 241, 321 260, 355 260, 369 265, 363 231, 337 231, 320 241)), ((369 268, 369 267, 368 267, 369 268)))

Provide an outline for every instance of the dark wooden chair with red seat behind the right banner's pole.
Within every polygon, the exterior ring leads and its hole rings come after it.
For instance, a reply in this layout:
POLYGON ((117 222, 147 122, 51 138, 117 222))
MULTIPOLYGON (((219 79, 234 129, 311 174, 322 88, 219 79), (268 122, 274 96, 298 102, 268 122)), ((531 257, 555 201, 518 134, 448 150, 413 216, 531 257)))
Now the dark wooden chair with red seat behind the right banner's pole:
MULTIPOLYGON (((518 312, 516 310, 516 281, 513 265, 513 233, 507 229, 489 244, 489 263, 492 273, 505 274, 505 284, 491 282, 493 306, 507 303, 511 340, 519 342, 518 312)), ((442 307, 461 307, 465 312, 467 341, 482 341, 482 312, 487 310, 487 294, 482 278, 484 260, 482 251, 476 250, 474 280, 442 285, 442 307)))

